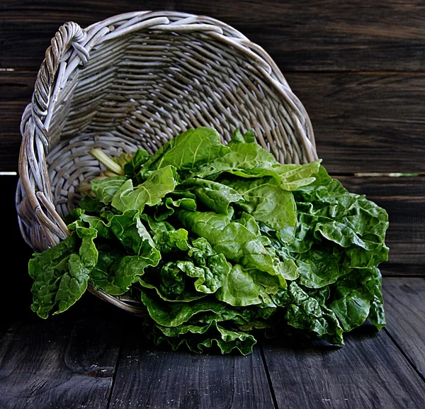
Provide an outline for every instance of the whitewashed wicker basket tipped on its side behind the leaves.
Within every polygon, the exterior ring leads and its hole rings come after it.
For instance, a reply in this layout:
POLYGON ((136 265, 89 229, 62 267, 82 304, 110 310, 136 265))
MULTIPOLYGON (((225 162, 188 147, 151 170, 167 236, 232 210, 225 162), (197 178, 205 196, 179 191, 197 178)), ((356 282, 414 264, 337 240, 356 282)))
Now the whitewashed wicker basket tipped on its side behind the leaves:
MULTIPOLYGON (((52 38, 23 112, 16 209, 35 251, 69 235, 62 220, 77 186, 104 170, 89 155, 153 153, 188 128, 212 126, 228 141, 253 129, 280 162, 317 158, 310 119, 275 62, 242 33, 175 11, 113 16, 52 38)), ((89 291, 142 315, 141 303, 89 291)))

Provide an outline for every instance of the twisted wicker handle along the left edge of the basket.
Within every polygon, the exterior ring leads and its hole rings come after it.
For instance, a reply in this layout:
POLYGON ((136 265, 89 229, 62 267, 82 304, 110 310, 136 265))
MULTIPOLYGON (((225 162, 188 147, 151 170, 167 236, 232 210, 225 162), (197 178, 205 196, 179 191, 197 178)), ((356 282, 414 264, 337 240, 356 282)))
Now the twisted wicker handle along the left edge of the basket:
POLYGON ((35 80, 31 103, 28 104, 21 120, 23 140, 19 152, 18 172, 20 181, 18 186, 19 189, 25 191, 26 195, 23 198, 25 203, 19 205, 18 217, 29 222, 20 224, 21 231, 24 229, 23 224, 27 224, 29 234, 32 237, 26 237, 26 232, 23 232, 24 238, 33 248, 37 247, 37 250, 55 245, 60 239, 69 235, 67 225, 55 210, 52 198, 50 179, 45 162, 45 157, 50 148, 50 135, 45 119, 52 103, 51 99, 56 82, 62 82, 62 78, 57 78, 57 74, 61 65, 62 69, 66 67, 64 56, 69 47, 74 47, 83 67, 89 60, 89 52, 84 47, 86 38, 86 31, 77 23, 71 21, 60 26, 55 37, 51 40, 50 47, 45 52, 45 59, 35 80), (42 232, 34 225, 34 220, 40 222, 39 226, 41 225, 42 232), (44 236, 44 239, 41 236, 44 236))

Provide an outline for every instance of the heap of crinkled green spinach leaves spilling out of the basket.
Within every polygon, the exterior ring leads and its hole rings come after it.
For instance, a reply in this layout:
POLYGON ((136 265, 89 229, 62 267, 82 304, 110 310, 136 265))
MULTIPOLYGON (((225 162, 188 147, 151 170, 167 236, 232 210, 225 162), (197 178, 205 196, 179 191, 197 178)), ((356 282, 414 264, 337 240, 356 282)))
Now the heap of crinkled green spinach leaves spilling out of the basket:
POLYGON ((366 318, 385 326, 387 213, 320 160, 280 164, 251 131, 224 145, 195 128, 109 164, 67 215, 69 237, 30 259, 40 317, 90 283, 140 300, 149 337, 173 349, 249 354, 266 329, 344 344, 366 318))

